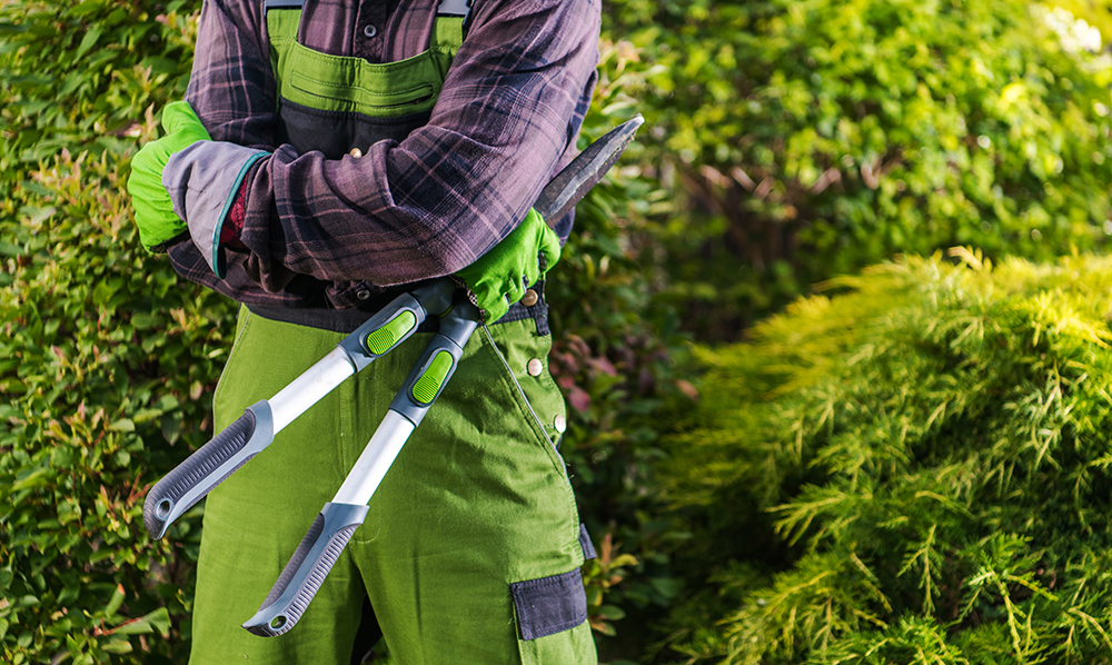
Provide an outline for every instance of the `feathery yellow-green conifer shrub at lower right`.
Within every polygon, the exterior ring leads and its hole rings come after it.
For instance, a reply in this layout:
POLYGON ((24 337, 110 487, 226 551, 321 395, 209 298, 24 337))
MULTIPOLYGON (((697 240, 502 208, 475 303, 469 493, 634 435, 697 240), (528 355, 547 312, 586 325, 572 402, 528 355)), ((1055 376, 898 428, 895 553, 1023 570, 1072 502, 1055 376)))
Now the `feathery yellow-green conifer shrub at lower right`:
POLYGON ((673 619, 688 662, 1108 662, 1112 259, 954 255, 699 353, 662 466, 718 569, 673 619))

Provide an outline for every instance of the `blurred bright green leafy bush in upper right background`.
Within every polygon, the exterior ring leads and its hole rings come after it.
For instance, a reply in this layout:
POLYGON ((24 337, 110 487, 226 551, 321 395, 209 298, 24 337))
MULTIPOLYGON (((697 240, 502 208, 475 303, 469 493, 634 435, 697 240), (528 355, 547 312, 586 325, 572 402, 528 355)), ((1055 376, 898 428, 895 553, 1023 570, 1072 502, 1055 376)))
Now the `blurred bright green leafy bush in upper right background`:
POLYGON ((648 149, 676 199, 657 217, 662 297, 703 338, 734 339, 812 284, 896 252, 973 245, 1048 259, 1108 245, 1112 69, 1061 10, 608 8, 644 61, 648 149))

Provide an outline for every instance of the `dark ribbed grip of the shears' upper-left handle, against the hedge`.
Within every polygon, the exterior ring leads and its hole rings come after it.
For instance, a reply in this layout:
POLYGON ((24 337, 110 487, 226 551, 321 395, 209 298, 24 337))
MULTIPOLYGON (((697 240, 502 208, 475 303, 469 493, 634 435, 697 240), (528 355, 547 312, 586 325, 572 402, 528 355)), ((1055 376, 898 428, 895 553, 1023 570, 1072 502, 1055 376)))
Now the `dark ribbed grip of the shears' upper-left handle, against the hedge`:
POLYGON ((256 434, 256 425, 255 413, 248 409, 238 420, 201 446, 151 488, 142 507, 142 520, 151 538, 161 538, 173 519, 266 447, 264 445, 245 450, 256 434), (221 473, 219 477, 212 476, 237 455, 241 458, 236 460, 232 468, 221 473))

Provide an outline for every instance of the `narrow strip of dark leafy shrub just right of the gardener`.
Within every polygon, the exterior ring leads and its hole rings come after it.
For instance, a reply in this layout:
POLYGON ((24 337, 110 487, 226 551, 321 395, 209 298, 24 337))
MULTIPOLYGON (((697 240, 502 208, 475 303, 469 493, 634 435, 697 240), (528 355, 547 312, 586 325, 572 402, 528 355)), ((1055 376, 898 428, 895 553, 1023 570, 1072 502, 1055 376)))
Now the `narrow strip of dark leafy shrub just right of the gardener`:
MULTIPOLYGON (((580 147, 643 110, 629 97, 641 72, 628 43, 602 43, 599 83, 580 147)), ((579 500, 579 515, 598 546, 584 567, 590 622, 604 659, 639 646, 643 635, 620 632, 627 614, 653 614, 677 593, 664 540, 675 536, 656 516, 653 463, 668 427, 666 404, 684 403, 692 388, 673 358, 682 341, 672 311, 653 302, 644 248, 648 209, 667 196, 643 176, 642 135, 612 175, 576 208, 549 285, 554 348, 549 363, 568 404, 560 451, 579 500)))

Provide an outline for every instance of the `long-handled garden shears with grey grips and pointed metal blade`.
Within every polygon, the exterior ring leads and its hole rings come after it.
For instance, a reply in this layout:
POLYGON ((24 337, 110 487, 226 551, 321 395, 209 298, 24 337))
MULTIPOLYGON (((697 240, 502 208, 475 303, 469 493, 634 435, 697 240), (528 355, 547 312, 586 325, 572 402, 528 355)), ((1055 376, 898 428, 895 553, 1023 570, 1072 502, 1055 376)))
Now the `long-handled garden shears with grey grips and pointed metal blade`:
MULTIPOLYGON (((575 207, 617 161, 644 122, 638 115, 593 142, 540 192, 534 209, 555 222, 575 207)), ((389 410, 332 500, 317 515, 270 594, 244 628, 274 637, 298 622, 366 517, 368 503, 433 403, 444 390, 481 315, 450 279, 425 282, 395 298, 336 349, 270 399, 260 400, 151 488, 143 524, 152 538, 217 485, 261 453, 276 434, 348 377, 409 338, 429 316, 439 331, 398 390, 389 410)))

